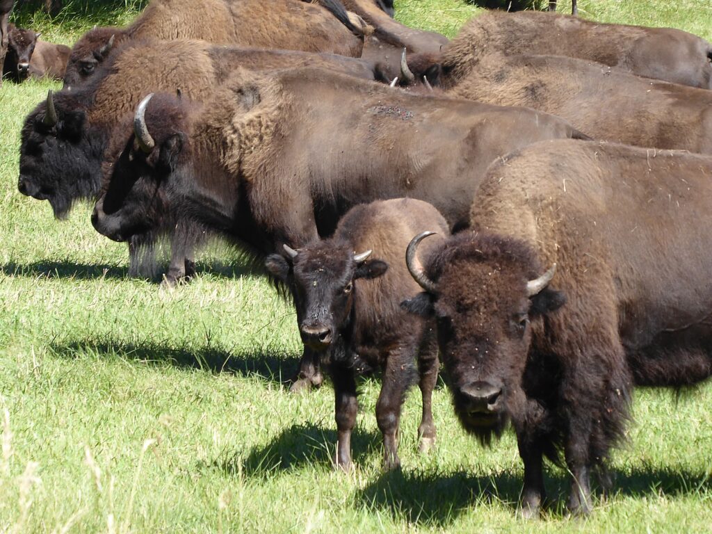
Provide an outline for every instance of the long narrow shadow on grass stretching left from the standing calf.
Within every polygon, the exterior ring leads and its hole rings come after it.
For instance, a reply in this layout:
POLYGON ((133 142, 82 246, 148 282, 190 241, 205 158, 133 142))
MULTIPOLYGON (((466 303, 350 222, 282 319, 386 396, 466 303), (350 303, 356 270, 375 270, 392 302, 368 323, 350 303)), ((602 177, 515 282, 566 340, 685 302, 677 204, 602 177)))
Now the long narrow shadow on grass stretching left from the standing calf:
POLYGON ((85 340, 66 345, 49 345, 57 357, 75 358, 93 355, 98 358, 121 358, 172 365, 207 372, 230 372, 244 377, 257 377, 268 384, 286 384, 298 367, 299 357, 285 352, 229 352, 221 348, 167 347, 160 343, 126 343, 115 340, 85 340))

